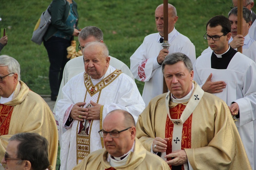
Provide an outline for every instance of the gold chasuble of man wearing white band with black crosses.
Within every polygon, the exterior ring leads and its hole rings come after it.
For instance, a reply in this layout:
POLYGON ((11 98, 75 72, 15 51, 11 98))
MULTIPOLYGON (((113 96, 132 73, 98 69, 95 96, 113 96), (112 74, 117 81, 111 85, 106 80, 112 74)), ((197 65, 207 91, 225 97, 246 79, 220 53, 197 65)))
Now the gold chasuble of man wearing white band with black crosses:
MULTIPOLYGON (((196 82, 194 84, 195 89, 202 91, 196 82)), ((183 103, 188 105, 196 98, 200 99, 191 119, 191 148, 185 148, 191 167, 193 169, 251 169, 226 103, 207 92, 197 96, 195 91, 189 101, 183 103)), ((169 107, 174 104, 170 101, 170 96, 168 92, 153 98, 139 116, 136 136, 148 151, 151 151, 155 137, 166 137, 166 119, 170 118, 169 107)), ((177 120, 180 121, 180 119, 171 118, 170 120, 174 123, 177 120)), ((181 142, 185 141, 184 136, 183 131, 181 142)))

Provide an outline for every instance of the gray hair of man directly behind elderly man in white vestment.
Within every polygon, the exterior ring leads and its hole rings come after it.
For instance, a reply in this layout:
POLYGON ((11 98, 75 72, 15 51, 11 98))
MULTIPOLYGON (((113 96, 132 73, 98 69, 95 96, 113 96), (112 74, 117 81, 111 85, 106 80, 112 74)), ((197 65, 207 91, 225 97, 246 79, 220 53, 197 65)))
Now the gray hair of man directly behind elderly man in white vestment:
POLYGON ((86 40, 90 36, 95 37, 98 41, 103 41, 103 32, 95 26, 88 26, 81 30, 78 36, 78 40, 81 38, 82 40, 86 40))

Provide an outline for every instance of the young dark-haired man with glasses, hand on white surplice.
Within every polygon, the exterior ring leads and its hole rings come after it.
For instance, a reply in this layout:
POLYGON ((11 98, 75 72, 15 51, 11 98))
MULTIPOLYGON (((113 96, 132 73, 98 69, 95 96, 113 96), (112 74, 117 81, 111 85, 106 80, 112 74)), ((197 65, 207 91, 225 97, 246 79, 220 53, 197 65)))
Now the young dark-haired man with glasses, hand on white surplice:
POLYGON ((256 160, 256 64, 232 49, 231 23, 215 16, 207 23, 204 38, 213 52, 199 56, 194 64, 194 80, 206 92, 224 100, 234 116, 245 151, 254 169, 256 160))

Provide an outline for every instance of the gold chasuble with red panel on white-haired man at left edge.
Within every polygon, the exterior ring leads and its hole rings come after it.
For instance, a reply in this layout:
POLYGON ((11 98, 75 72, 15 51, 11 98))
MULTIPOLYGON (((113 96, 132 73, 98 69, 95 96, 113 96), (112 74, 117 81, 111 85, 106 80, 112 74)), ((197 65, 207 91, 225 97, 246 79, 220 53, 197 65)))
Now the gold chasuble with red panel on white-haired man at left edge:
POLYGON ((19 81, 12 100, 0 104, 1 158, 4 157, 8 140, 14 134, 22 132, 38 133, 47 139, 49 162, 55 167, 58 131, 53 113, 41 96, 29 90, 24 82, 19 81))

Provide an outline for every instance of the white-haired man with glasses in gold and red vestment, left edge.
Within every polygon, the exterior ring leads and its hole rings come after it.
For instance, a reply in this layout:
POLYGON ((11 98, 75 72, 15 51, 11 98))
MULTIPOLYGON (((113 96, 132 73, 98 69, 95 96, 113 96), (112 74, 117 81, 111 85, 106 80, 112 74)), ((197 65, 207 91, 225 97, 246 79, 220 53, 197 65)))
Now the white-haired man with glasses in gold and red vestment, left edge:
POLYGON ((49 161, 55 167, 58 132, 52 111, 20 80, 19 63, 8 55, 0 56, 0 108, 0 157, 4 156, 9 138, 17 133, 33 132, 48 140, 49 161))

